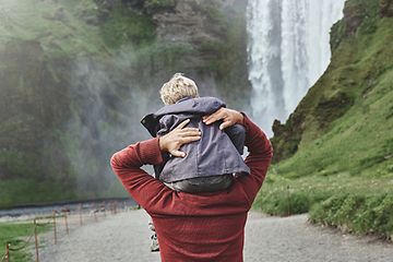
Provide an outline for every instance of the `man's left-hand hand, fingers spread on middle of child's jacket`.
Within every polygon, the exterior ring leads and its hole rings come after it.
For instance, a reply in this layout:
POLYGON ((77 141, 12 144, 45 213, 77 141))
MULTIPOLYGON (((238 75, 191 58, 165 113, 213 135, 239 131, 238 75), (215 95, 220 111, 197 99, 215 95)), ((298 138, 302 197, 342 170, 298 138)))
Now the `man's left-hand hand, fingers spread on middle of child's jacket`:
POLYGON ((159 138, 159 148, 163 152, 169 152, 172 156, 184 157, 186 153, 179 151, 181 145, 188 144, 201 139, 201 131, 196 128, 184 128, 190 122, 186 119, 169 133, 159 138))

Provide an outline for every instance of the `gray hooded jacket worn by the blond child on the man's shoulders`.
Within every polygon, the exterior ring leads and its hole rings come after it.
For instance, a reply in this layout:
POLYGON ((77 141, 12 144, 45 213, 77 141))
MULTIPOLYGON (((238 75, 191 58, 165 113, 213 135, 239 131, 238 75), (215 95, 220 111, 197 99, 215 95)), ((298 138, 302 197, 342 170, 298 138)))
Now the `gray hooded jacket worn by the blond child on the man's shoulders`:
POLYGON ((235 124, 224 132, 218 128, 219 122, 210 126, 202 122, 203 116, 221 107, 225 107, 225 104, 214 97, 183 98, 142 119, 142 124, 153 136, 168 133, 186 119, 190 119, 187 127, 198 128, 202 132, 201 140, 181 146, 180 150, 187 154, 184 158, 164 155, 164 164, 154 167, 156 178, 175 182, 196 177, 250 172, 240 155, 246 138, 245 128, 235 124))

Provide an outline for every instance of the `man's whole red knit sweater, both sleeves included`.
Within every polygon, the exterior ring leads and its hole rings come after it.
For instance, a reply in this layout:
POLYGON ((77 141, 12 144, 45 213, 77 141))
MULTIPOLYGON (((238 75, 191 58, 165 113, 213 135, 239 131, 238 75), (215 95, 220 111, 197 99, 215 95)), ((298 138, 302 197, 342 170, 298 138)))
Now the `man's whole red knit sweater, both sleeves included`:
POLYGON ((251 174, 226 190, 176 192, 141 169, 163 162, 158 139, 116 153, 111 166, 132 198, 152 216, 162 261, 242 261, 247 213, 262 186, 272 158, 265 134, 245 116, 246 164, 251 174))

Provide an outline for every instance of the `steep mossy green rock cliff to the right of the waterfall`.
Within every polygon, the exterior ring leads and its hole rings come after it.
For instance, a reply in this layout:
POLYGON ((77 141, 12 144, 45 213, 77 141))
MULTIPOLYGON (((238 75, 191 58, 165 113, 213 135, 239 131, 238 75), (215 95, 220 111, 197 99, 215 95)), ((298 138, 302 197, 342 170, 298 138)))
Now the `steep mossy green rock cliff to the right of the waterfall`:
MULTIPOLYGON (((314 159, 315 165, 319 162, 320 170, 314 172, 330 169, 332 172, 357 172, 357 165, 365 166, 372 158, 366 156, 366 152, 360 154, 357 150, 370 146, 372 150, 369 154, 376 154, 376 159, 385 157, 385 160, 370 162, 374 165, 389 164, 392 152, 376 153, 373 146, 377 145, 373 143, 389 147, 392 139, 391 135, 381 138, 392 124, 392 104, 389 100, 383 106, 374 104, 376 99, 392 96, 392 84, 386 83, 393 66, 392 59, 389 59, 393 56, 390 45, 393 40, 391 9, 390 0, 346 2, 344 19, 331 32, 331 64, 286 123, 275 121, 273 124, 275 163, 284 163, 290 157, 290 163, 299 163, 308 155, 310 162, 314 159), (380 114, 385 114, 385 118, 380 119, 380 114), (358 119, 354 122, 355 116, 358 119), (360 139, 360 134, 365 136, 360 139), (360 140, 355 141, 355 138, 360 140), (341 144, 336 144, 337 141, 342 141, 341 144), (350 145, 344 150, 342 146, 346 143, 350 145), (347 157, 349 163, 341 165, 337 159, 334 163, 332 159, 337 157, 330 157, 330 154, 347 157)), ((367 167, 371 166, 372 164, 367 167)))

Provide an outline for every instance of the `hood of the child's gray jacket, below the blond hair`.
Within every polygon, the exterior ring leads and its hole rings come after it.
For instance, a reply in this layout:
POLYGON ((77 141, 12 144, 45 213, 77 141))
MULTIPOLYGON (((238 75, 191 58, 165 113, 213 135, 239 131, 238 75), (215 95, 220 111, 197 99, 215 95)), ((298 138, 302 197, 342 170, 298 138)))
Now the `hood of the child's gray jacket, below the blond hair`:
POLYGON ((147 129, 152 136, 156 136, 159 127, 159 119, 165 115, 209 115, 225 106, 225 103, 216 97, 186 97, 174 105, 164 106, 156 112, 146 115, 144 118, 142 118, 141 123, 147 129))

